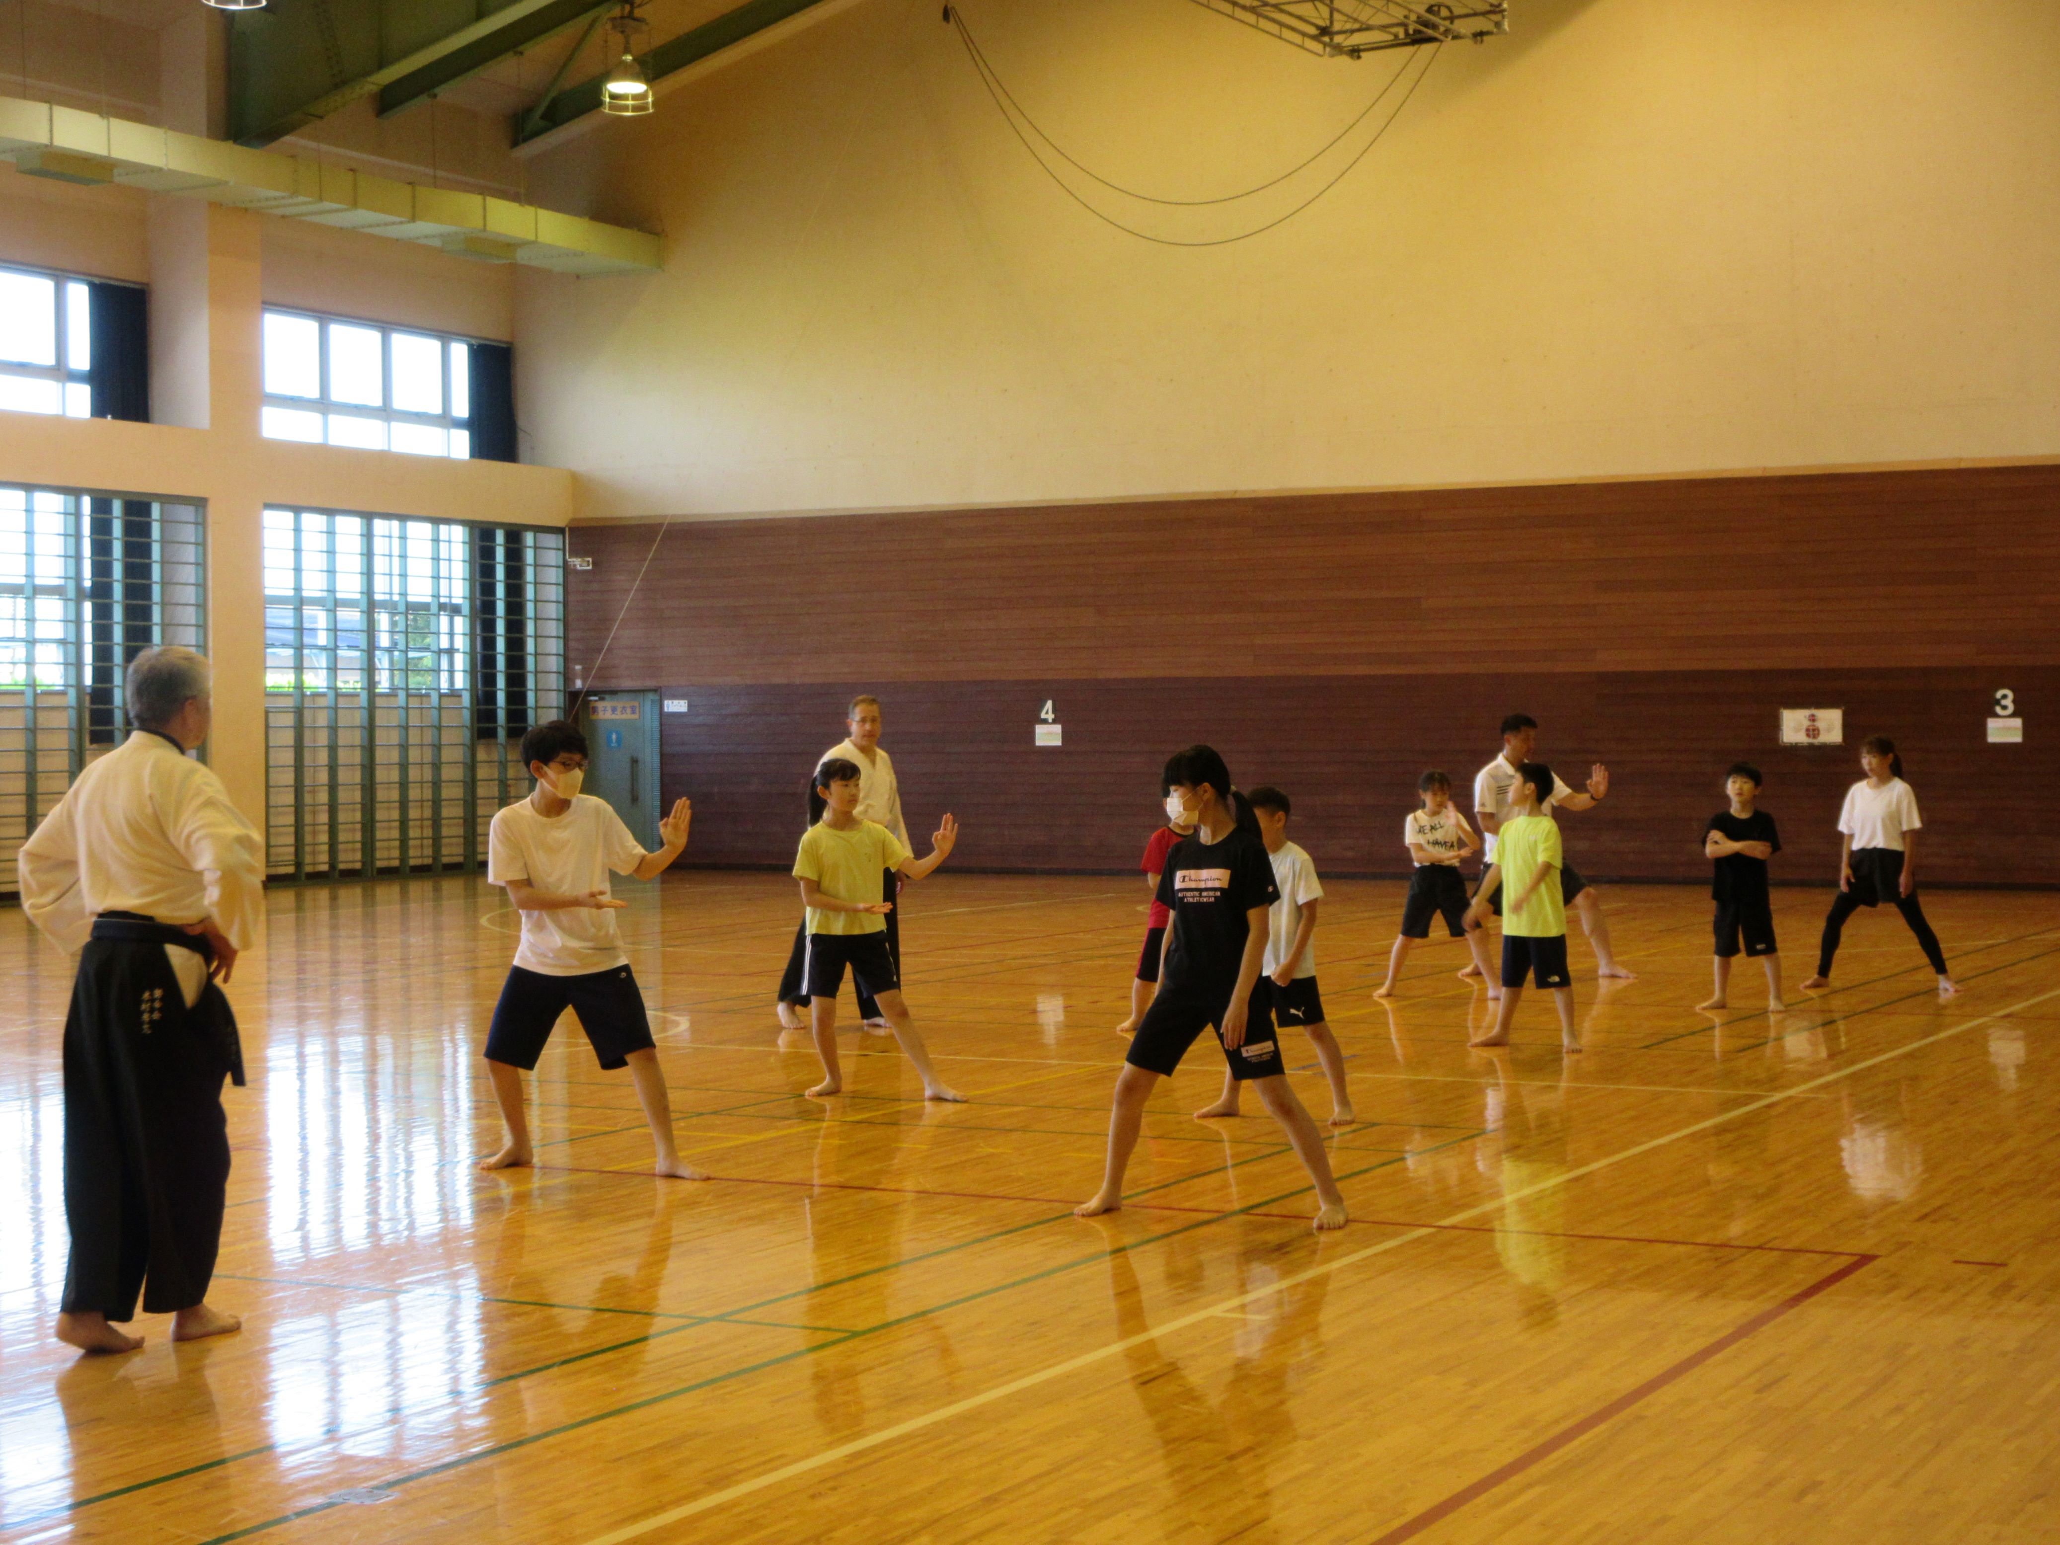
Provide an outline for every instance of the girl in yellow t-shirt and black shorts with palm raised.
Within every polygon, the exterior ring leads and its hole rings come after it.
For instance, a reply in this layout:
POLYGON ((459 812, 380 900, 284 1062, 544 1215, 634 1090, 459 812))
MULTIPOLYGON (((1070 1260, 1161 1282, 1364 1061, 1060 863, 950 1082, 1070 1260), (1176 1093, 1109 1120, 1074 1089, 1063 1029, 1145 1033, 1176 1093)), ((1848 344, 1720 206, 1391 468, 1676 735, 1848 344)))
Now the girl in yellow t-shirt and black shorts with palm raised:
POLYGON ((929 857, 917 859, 886 826, 859 820, 853 814, 857 803, 857 762, 832 756, 818 766, 816 787, 810 793, 810 814, 816 820, 801 836, 801 849, 793 859, 793 878, 801 882, 801 904, 808 908, 801 987, 808 993, 816 1055, 822 1057, 822 1084, 810 1094, 830 1096, 845 1088, 843 1065, 836 1059, 836 993, 845 985, 849 966, 857 989, 871 993, 880 1003, 894 1038, 923 1077, 923 1098, 964 1100, 964 1094, 937 1077, 929 1046, 908 1020, 886 931, 886 917, 894 911, 894 902, 886 898, 886 873, 923 880, 950 857, 958 843, 958 822, 946 816, 929 838, 929 857))

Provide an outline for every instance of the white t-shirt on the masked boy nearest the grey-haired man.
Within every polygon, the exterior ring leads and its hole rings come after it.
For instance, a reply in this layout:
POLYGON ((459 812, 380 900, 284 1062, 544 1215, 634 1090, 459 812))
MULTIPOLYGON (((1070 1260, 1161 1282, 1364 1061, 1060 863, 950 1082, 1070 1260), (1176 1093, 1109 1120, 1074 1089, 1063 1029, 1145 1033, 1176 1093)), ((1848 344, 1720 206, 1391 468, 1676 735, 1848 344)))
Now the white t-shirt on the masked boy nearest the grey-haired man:
MULTIPOLYGON (((608 892, 608 871, 630 873, 643 863, 630 828, 606 799, 583 793, 562 816, 544 816, 523 799, 494 814, 486 836, 486 880, 505 886, 527 880, 554 896, 608 892)), ((515 964, 544 976, 585 976, 628 964, 608 906, 566 906, 521 915, 515 964)))

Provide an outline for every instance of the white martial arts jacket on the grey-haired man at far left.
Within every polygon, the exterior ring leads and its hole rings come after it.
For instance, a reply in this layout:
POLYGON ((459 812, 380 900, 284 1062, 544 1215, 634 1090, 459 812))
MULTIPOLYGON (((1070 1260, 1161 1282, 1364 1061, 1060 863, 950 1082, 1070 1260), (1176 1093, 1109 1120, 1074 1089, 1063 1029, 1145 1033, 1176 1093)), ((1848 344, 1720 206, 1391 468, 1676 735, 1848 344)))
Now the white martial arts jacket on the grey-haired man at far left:
POLYGON ((264 927, 264 838, 214 768, 148 729, 87 764, 23 843, 16 869, 21 908, 62 950, 82 950, 101 913, 212 917, 237 950, 264 927))

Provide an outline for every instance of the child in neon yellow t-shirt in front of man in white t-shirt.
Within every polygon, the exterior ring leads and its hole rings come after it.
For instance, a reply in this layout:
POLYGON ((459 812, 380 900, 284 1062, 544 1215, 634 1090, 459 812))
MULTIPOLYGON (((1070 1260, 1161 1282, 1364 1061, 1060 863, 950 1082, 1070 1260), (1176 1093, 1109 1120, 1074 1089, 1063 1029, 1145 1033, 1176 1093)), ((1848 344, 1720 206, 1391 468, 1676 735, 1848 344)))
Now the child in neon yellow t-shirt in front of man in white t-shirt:
POLYGON ((1561 1051, 1580 1051, 1574 1030, 1574 978, 1566 968, 1566 898, 1559 892, 1559 824, 1545 814, 1553 791, 1551 768, 1543 762, 1520 762, 1510 789, 1508 814, 1496 832, 1496 861, 1481 876, 1481 888, 1467 908, 1467 929, 1477 929, 1491 915, 1498 888, 1508 886, 1502 906, 1502 1001, 1496 1005, 1496 1028, 1469 1046, 1508 1046, 1516 1024, 1516 1005, 1524 997, 1524 976, 1549 987, 1559 1009, 1561 1051))

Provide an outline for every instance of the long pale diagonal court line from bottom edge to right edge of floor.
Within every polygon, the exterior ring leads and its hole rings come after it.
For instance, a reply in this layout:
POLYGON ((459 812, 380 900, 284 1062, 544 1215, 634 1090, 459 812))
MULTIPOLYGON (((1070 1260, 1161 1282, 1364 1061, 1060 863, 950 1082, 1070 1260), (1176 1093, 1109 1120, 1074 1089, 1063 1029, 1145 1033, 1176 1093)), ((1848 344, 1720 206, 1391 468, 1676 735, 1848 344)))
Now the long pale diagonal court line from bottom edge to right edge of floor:
POLYGON ((2017 1014, 2019 1009, 2029 1009, 2033 1003, 2044 1003, 2046 999, 2052 997, 2060 997, 2060 987, 2054 987, 2048 993, 2039 993, 2037 997, 2027 997, 2019 1003, 2011 1003, 2008 1007, 1996 1009, 1994 1014, 1984 1014, 1978 1020, 1965 1020, 1963 1024, 1938 1030, 1936 1034, 1924 1036, 1922 1040, 1912 1040, 1906 1046, 1895 1046, 1891 1051, 1877 1053, 1875 1057, 1866 1057, 1864 1061, 1852 1063, 1850 1067, 1842 1067, 1835 1073, 1825 1073, 1823 1077, 1811 1079, 1809 1084, 1802 1084, 1796 1090, 1770 1094, 1763 1100, 1739 1106, 1737 1110, 1726 1110, 1724 1114, 1710 1117, 1708 1121, 1697 1121, 1689 1127, 1681 1127, 1679 1131, 1671 1131, 1664 1137, 1652 1137, 1634 1147, 1625 1147, 1621 1154, 1599 1158, 1592 1164, 1582 1164, 1580 1168, 1568 1170, 1566 1174, 1557 1174, 1549 1180, 1539 1180, 1537 1184, 1524 1187, 1522 1191, 1506 1191, 1494 1201, 1483 1201, 1475 1207, 1456 1211, 1440 1224, 1413 1228, 1407 1234, 1397 1234, 1395 1238, 1380 1240, 1378 1244, 1368 1244, 1364 1250, 1341 1255, 1335 1261, 1323 1261, 1310 1267, 1308 1271, 1298 1271, 1292 1277, 1279 1277, 1267 1283, 1265 1288, 1255 1288, 1246 1294, 1238 1294, 1236 1298, 1226 1298, 1220 1304, 1197 1308, 1189 1314, 1182 1314, 1180 1318, 1166 1320, 1164 1325, 1152 1331, 1141 1331, 1139 1335, 1123 1337, 1121 1341, 1110 1341, 1108 1345, 1096 1347, 1094 1351, 1084 1351, 1077 1358, 1067 1358, 1065 1362, 1051 1364, 1049 1368, 1040 1368, 1034 1374, 1024 1374, 1022 1378, 1014 1378, 1007 1384, 997 1384, 995 1388, 983 1390, 981 1395, 968 1395, 966 1399, 954 1401, 952 1405, 939 1405, 935 1411, 925 1411, 919 1417, 896 1421, 892 1428, 869 1432, 863 1438, 853 1438, 851 1442, 838 1444, 836 1448, 824 1448, 816 1454, 810 1454, 808 1458, 797 1458, 791 1465, 781 1465, 779 1469, 764 1471, 762 1475, 754 1475, 748 1481, 737 1481, 735 1485, 723 1487, 721 1491, 711 1491, 709 1496, 696 1498, 694 1502, 682 1502, 678 1508, 667 1508, 665 1512, 653 1514, 641 1522, 624 1524, 622 1529, 612 1529, 606 1535, 595 1535, 585 1545, 622 1545, 622 1541, 639 1539, 643 1535, 649 1535, 653 1529, 676 1524, 682 1518, 692 1518, 696 1514, 709 1512, 711 1508, 721 1508, 729 1502, 735 1502, 737 1498, 748 1498, 754 1491, 764 1491, 768 1485, 779 1485, 781 1481, 791 1481, 797 1475, 808 1475, 810 1471, 818 1471, 824 1465, 834 1465, 840 1458, 863 1454, 867 1448, 880 1448, 882 1444, 890 1444, 896 1438, 906 1438, 913 1432, 935 1428, 939 1421, 950 1421, 952 1417, 960 1417, 966 1411, 976 1411, 983 1405, 993 1405, 995 1401, 1005 1401, 1011 1395, 1020 1395, 1026 1388, 1036 1388, 1038 1384, 1049 1384, 1055 1378, 1065 1378, 1067 1374, 1079 1372, 1082 1368, 1092 1368, 1098 1362, 1106 1362, 1108 1358, 1129 1351, 1135 1345, 1143 1345, 1145 1341, 1156 1341, 1162 1335, 1184 1331, 1193 1325, 1201 1325, 1203 1320, 1224 1318, 1226 1312, 1236 1312, 1244 1304, 1250 1304, 1259 1298, 1267 1298, 1269 1294, 1279 1294, 1285 1292, 1288 1288, 1298 1288, 1304 1281, 1312 1281, 1325 1273, 1341 1271, 1343 1267, 1358 1265, 1360 1261, 1370 1261, 1372 1257, 1386 1255, 1388 1250, 1399 1250, 1403 1244, 1413 1244, 1415 1240, 1430 1238, 1432 1234, 1438 1234, 1440 1230, 1450 1228, 1452 1224, 1463 1224, 1469 1217, 1481 1217, 1485 1213, 1502 1211, 1512 1201, 1522 1201, 1524 1197, 1535 1197, 1543 1191, 1553 1191, 1572 1180, 1580 1180, 1588 1174, 1594 1174, 1596 1170, 1607 1170, 1613 1164, 1623 1164, 1625 1160, 1640 1158, 1656 1147, 1664 1147, 1667 1143, 1681 1141, 1683 1137, 1693 1137, 1700 1131, 1722 1127, 1726 1121, 1737 1121, 1739 1117, 1749 1114, 1753 1110, 1765 1110, 1772 1104, 1790 1100, 1796 1094, 1813 1090, 1821 1084, 1835 1084, 1838 1079, 1852 1077, 1854 1073, 1862 1073, 1868 1067, 1879 1067, 1881 1063, 1893 1061, 1897 1057, 1908 1057, 1914 1051, 1963 1034, 1965 1030, 1971 1030, 1978 1024, 1988 1024, 1990 1020, 2000 1020, 2004 1016, 2017 1014))

